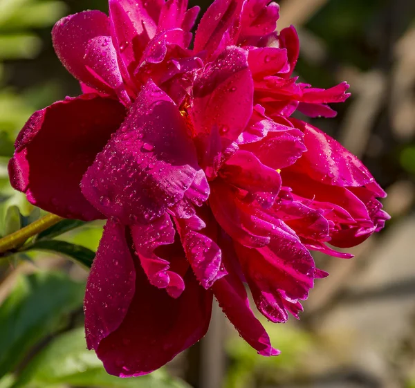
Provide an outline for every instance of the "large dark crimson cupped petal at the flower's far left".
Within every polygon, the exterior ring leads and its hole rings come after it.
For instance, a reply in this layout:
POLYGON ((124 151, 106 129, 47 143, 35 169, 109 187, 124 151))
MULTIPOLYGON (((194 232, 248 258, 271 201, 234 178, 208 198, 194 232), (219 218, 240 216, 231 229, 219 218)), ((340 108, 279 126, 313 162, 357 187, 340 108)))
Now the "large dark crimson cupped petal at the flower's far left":
POLYGON ((104 218, 82 195, 80 182, 104 148, 125 109, 116 100, 82 95, 37 111, 16 140, 12 186, 30 203, 66 218, 104 218))

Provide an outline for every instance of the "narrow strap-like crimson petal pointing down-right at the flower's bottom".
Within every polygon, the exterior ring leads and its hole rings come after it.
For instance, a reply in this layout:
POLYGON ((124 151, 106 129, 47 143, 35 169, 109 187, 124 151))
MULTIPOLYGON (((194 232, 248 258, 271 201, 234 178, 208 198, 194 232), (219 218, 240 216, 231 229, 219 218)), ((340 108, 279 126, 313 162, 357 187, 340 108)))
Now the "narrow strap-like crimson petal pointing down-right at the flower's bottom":
POLYGON ((279 354, 279 351, 271 346, 264 326, 252 313, 245 287, 234 272, 216 281, 212 290, 223 313, 251 347, 261 355, 279 354))

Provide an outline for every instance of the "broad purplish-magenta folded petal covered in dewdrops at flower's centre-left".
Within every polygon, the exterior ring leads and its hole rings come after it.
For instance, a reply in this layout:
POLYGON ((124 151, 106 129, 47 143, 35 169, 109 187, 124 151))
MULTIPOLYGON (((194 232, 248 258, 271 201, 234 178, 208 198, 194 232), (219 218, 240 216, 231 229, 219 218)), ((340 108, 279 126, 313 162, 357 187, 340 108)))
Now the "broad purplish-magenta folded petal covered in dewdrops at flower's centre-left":
POLYGON ((122 223, 149 223, 181 201, 199 170, 178 107, 149 82, 84 175, 82 192, 122 223))

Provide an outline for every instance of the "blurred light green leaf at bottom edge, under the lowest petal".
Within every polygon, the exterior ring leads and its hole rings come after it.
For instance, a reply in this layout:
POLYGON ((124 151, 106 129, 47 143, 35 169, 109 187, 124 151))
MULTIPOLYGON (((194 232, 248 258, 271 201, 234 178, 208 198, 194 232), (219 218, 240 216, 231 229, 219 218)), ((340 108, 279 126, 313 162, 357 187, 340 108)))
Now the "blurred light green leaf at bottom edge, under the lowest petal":
POLYGON ((86 349, 84 329, 60 335, 43 349, 24 369, 17 387, 49 387, 50 385, 109 388, 189 388, 184 382, 156 371, 138 378, 110 376, 95 352, 86 349))

